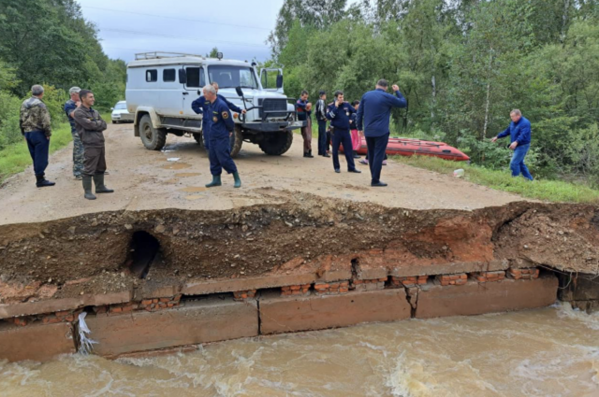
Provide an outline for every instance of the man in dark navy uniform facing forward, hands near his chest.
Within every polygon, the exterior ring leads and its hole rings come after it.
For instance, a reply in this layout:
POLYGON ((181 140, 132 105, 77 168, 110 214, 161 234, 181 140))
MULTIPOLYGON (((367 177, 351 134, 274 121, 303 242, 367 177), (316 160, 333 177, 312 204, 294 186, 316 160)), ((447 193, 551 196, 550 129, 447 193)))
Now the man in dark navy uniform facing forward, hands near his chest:
POLYGON ((333 168, 335 172, 341 172, 339 164, 339 145, 343 145, 343 152, 347 161, 347 172, 361 173, 353 163, 352 136, 349 133, 349 120, 356 109, 343 100, 343 92, 335 92, 335 102, 326 110, 326 118, 331 120, 332 127, 332 153, 333 168))

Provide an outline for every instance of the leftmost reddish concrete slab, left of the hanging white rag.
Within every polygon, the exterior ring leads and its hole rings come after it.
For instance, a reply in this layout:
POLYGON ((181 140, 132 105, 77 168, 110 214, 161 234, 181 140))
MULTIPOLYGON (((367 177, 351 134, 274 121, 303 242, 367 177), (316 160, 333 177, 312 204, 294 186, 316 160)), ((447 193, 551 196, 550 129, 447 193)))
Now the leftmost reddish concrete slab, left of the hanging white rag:
POLYGON ((0 359, 49 361, 63 353, 75 353, 70 323, 0 326, 0 359))

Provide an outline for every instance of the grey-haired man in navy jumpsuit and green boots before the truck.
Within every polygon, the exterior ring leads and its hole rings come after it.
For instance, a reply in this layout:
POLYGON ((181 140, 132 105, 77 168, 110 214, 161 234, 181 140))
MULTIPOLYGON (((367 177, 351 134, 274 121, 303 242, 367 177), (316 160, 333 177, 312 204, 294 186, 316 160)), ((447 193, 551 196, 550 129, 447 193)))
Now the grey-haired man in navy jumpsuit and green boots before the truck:
POLYGON ((216 94, 216 89, 212 85, 204 87, 204 97, 208 100, 208 110, 204 117, 210 119, 210 134, 208 140, 208 160, 210 160, 210 173, 212 182, 206 185, 207 188, 222 185, 220 174, 224 168, 227 173, 232 173, 235 178, 234 187, 241 187, 241 179, 237 172, 237 166, 231 158, 231 145, 229 135, 235 128, 235 122, 229 111, 229 106, 216 94))

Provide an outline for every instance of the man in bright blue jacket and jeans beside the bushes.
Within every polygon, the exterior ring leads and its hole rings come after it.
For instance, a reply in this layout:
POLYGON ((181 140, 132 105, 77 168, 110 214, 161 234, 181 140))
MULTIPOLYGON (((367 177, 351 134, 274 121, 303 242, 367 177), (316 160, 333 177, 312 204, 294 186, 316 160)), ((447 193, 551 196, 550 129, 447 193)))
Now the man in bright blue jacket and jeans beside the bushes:
POLYGON ((524 178, 532 181, 533 176, 530 175, 528 167, 524 164, 524 157, 528 153, 528 149, 530 149, 530 121, 528 121, 527 118, 522 117, 522 112, 519 111, 519 109, 514 109, 510 112, 510 118, 512 118, 510 126, 499 135, 495 136, 495 138, 492 138, 491 142, 496 142, 497 139, 509 135, 511 139, 510 149, 514 151, 512 161, 510 161, 512 176, 518 176, 522 173, 524 178))

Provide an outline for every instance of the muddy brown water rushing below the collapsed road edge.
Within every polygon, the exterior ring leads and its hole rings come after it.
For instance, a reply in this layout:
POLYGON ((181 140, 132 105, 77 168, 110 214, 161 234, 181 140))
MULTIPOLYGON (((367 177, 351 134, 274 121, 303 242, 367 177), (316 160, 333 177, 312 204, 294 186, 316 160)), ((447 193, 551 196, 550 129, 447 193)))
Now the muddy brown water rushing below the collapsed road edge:
POLYGON ((599 396, 599 313, 558 305, 155 358, 0 362, 0 396, 599 396))

